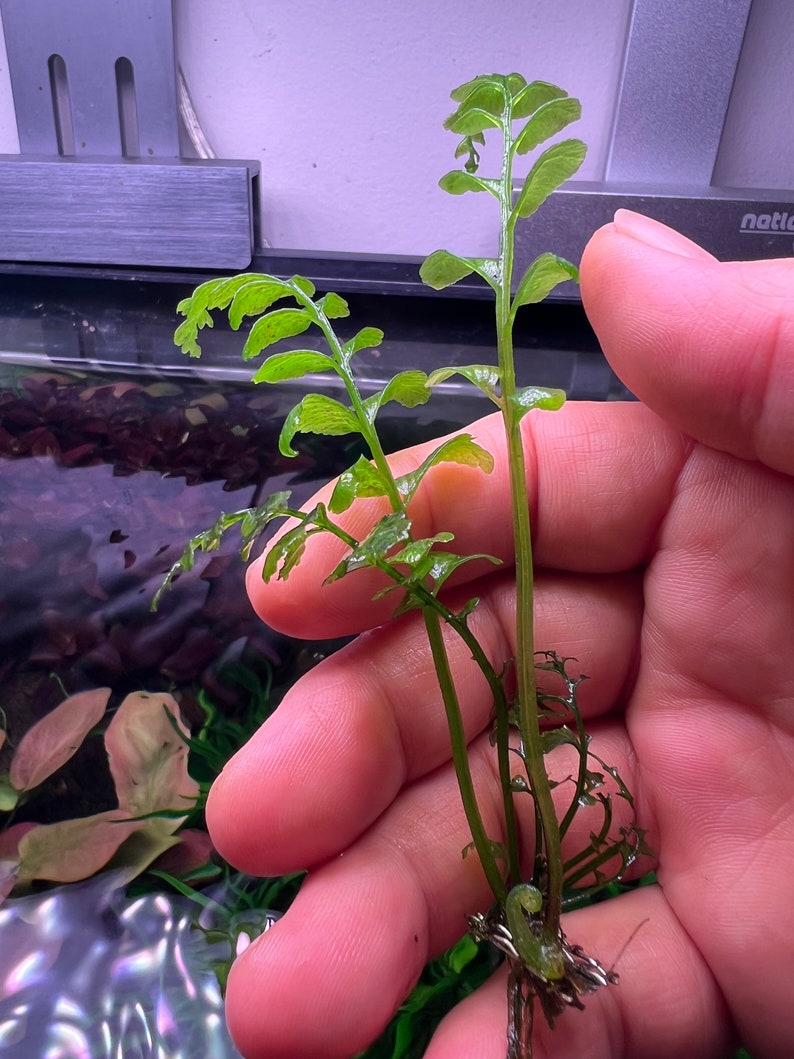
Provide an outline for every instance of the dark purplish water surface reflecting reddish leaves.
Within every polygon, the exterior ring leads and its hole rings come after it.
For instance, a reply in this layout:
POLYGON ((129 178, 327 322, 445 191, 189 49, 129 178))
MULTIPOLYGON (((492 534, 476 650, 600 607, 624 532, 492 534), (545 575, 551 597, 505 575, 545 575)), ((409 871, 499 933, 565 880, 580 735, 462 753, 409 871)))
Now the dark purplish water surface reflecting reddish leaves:
MULTIPOLYGON (((237 693, 219 677, 229 663, 274 665, 285 681, 305 664, 302 645, 254 615, 234 534, 150 611, 186 540, 220 511, 284 488, 302 502, 357 457, 344 437, 278 454, 300 396, 199 376, 0 365, 0 687, 12 740, 85 688, 177 692, 190 721, 198 688, 234 708, 237 693)), ((455 425, 400 411, 383 420, 391 448, 455 425)))

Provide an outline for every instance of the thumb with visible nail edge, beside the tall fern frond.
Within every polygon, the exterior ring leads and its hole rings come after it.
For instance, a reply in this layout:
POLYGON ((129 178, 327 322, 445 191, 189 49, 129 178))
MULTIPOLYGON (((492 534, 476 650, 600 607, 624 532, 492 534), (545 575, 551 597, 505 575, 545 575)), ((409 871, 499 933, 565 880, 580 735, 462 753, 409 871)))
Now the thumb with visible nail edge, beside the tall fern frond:
POLYGON ((794 473, 794 261, 718 262, 619 210, 584 249, 581 292, 610 364, 712 448, 794 473))

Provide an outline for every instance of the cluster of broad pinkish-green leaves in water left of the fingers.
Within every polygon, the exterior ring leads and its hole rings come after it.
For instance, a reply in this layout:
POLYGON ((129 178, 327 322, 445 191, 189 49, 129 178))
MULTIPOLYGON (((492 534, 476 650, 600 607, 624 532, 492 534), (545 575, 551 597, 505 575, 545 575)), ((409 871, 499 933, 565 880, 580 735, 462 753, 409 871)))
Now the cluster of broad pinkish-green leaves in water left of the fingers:
MULTIPOLYGON (((104 733, 116 806, 54 823, 15 815, 58 775, 103 721, 110 688, 69 696, 20 738, 0 774, 0 900, 34 882, 75 882, 105 867, 132 879, 182 845, 172 869, 209 859, 206 834, 183 830, 199 785, 187 771, 187 729, 170 695, 126 696, 104 733)), ((0 730, 0 747, 6 732, 0 730)), ((50 798, 53 791, 47 791, 50 798)), ((30 806, 29 806, 30 808, 30 806)))

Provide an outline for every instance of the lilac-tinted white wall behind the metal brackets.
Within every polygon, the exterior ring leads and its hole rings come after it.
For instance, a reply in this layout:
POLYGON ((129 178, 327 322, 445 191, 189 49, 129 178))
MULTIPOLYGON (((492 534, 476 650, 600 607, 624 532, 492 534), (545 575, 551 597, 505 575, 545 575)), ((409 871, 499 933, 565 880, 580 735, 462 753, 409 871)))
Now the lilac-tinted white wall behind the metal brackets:
MULTIPOLYGON (((493 203, 436 186, 456 85, 517 70, 583 105, 581 177, 601 178, 631 0, 175 0, 179 58, 219 157, 261 162, 278 248, 485 254, 493 203)), ((794 186, 794 3, 756 0, 726 123, 725 183, 794 186), (782 132, 782 134, 781 134, 782 132)), ((707 76, 707 71, 704 71, 707 76)), ((0 152, 18 140, 0 51, 0 152)))

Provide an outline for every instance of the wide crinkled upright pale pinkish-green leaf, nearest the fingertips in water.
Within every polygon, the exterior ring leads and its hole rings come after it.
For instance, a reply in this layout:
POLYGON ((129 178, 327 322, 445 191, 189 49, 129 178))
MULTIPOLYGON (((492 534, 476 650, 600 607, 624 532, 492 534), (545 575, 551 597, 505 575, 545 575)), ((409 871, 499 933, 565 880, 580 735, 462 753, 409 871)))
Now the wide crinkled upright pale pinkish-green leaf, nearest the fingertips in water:
MULTIPOLYGON (((190 735, 170 695, 136 692, 115 712, 105 734, 119 807, 127 816, 193 808, 199 787, 187 772, 190 735)), ((169 821, 172 831, 179 819, 169 821)))

